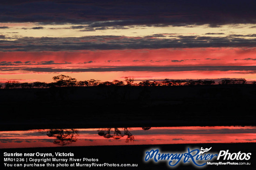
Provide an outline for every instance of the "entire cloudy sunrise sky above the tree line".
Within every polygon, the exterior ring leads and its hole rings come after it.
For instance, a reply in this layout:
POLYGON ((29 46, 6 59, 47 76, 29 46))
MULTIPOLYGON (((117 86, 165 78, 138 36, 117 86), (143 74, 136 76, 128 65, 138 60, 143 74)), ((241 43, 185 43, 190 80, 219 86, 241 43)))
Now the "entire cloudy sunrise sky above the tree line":
POLYGON ((0 1, 0 82, 256 81, 255 0, 0 1))

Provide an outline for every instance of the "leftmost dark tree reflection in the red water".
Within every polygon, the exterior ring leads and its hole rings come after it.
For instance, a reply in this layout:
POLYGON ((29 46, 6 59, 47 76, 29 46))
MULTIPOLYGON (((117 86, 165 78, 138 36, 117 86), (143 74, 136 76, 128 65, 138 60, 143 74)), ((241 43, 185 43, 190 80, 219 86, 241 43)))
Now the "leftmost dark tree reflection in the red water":
POLYGON ((54 137, 53 143, 61 146, 76 142, 78 136, 75 129, 47 129, 40 132, 46 133, 48 137, 54 137))

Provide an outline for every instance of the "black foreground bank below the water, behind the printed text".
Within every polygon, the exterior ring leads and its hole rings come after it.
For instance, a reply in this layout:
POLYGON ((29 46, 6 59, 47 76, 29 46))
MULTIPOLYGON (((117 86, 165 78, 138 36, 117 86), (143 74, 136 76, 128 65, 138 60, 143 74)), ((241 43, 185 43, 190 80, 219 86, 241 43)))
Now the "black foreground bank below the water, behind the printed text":
MULTIPOLYGON (((0 149, 0 155, 1 159, 3 160, 3 153, 53 153, 54 152, 61 152, 61 153, 74 153, 74 158, 94 158, 99 159, 98 162, 94 163, 108 163, 108 164, 138 164, 138 167, 91 167, 90 169, 103 169, 103 170, 109 170, 109 169, 125 169, 125 170, 170 170, 170 169, 178 169, 178 170, 192 170, 196 169, 198 170, 198 167, 195 167, 191 163, 186 164, 178 164, 177 167, 170 167, 168 166, 167 161, 161 161, 156 163, 153 163, 153 161, 149 161, 145 163, 143 160, 145 159, 145 152, 150 151, 151 149, 159 149, 161 153, 185 153, 188 152, 187 148, 190 149, 200 149, 203 148, 210 148, 210 152, 213 153, 219 153, 220 151, 227 151, 229 150, 229 153, 238 153, 241 151, 241 153, 251 153, 251 157, 249 160, 223 160, 223 157, 221 160, 212 160, 210 162, 245 162, 250 163, 250 165, 206 165, 206 167, 202 167, 200 169, 202 170, 255 170, 256 169, 256 147, 255 143, 236 143, 236 144, 173 144, 173 145, 124 145, 124 146, 79 146, 79 147, 54 147, 54 148, 15 148, 15 149, 0 149)), ((19 157, 22 158, 22 157, 19 157)), ((34 157, 34 158, 40 158, 40 157, 34 157)), ((68 158, 69 157, 59 157, 59 158, 68 158)), ((183 161, 183 159, 182 159, 183 161)), ((55 163, 56 162, 52 162, 55 163)), ((68 161, 69 163, 69 161, 68 161)), ((74 163, 74 162, 73 162, 74 163)), ((90 164, 92 162, 81 162, 81 164, 90 164)), ((62 163, 63 164, 63 163, 62 163)), ((11 168, 11 167, 4 167, 4 164, 1 165, 2 170, 10 170, 10 169, 24 169, 24 168, 11 168)), ((43 169, 46 168, 40 168, 40 167, 28 167, 26 169, 43 169)), ((47 167, 48 169, 54 169, 56 170, 56 167, 47 167)), ((61 167, 57 169, 67 169, 70 170, 72 168, 70 167, 61 167)), ((86 167, 75 167, 73 169, 86 169, 86 167)), ((88 169, 88 168, 87 168, 88 169)))

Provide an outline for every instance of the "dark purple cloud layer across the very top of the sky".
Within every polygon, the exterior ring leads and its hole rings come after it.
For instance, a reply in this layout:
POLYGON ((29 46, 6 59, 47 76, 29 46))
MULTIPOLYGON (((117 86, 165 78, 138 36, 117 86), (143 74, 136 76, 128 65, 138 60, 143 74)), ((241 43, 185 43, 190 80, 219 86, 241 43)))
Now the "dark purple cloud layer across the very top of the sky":
POLYGON ((254 0, 12 0, 1 2, 0 22, 218 27, 256 24, 255 6, 254 0))

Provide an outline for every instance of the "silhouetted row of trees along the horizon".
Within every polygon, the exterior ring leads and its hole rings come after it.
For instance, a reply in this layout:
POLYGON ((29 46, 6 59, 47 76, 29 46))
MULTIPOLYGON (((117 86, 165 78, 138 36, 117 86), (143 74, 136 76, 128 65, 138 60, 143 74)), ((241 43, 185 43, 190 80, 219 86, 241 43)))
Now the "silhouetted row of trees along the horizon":
MULTIPOLYGON (((125 77, 124 81, 114 80, 112 82, 101 82, 100 80, 86 80, 77 81, 75 78, 65 75, 59 75, 53 77, 54 82, 16 82, 9 81, 5 83, 5 86, 0 85, 0 88, 51 88, 51 87, 72 87, 72 86, 195 86, 195 85, 213 85, 215 81, 213 80, 170 80, 164 79, 162 82, 156 81, 142 81, 135 83, 133 78, 125 77)), ((225 79, 218 82, 220 85, 228 84, 246 84, 245 79, 225 79)), ((252 82, 256 84, 256 82, 252 82)))

